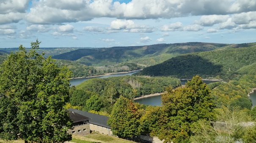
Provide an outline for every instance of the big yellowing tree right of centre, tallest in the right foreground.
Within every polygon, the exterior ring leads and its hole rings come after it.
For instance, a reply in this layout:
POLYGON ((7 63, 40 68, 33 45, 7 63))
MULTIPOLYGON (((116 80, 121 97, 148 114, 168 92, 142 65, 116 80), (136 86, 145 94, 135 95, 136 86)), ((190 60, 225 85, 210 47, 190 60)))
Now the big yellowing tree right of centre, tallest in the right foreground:
MULTIPOLYGON (((162 109, 151 110, 149 125, 156 122, 152 127, 151 135, 156 135, 165 143, 188 142, 193 131, 193 123, 200 119, 215 120, 212 97, 210 90, 201 77, 193 77, 186 87, 178 87, 175 90, 169 88, 168 93, 162 95, 162 109), (154 115, 156 114, 157 117, 154 115)), ((147 121, 146 120, 146 121, 147 121)))

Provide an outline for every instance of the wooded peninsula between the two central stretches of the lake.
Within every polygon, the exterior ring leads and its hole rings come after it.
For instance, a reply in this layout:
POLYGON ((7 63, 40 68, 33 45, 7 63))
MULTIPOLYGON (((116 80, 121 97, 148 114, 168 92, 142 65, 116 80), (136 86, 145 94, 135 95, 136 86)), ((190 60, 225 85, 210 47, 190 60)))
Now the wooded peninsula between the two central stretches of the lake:
POLYGON ((85 111, 111 113, 113 104, 121 95, 133 100, 142 95, 162 93, 167 87, 179 87, 180 83, 179 79, 169 77, 94 78, 71 87, 70 103, 85 111))

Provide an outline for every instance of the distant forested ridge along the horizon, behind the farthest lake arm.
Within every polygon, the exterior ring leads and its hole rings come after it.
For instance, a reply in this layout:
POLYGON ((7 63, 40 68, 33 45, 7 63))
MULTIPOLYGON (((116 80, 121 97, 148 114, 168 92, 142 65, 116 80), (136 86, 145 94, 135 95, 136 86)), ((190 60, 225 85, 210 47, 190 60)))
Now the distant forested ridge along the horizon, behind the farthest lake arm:
POLYGON ((88 66, 106 66, 129 62, 146 66, 159 64, 184 53, 210 51, 228 44, 187 42, 146 46, 79 49, 53 56, 56 59, 78 61, 88 66))

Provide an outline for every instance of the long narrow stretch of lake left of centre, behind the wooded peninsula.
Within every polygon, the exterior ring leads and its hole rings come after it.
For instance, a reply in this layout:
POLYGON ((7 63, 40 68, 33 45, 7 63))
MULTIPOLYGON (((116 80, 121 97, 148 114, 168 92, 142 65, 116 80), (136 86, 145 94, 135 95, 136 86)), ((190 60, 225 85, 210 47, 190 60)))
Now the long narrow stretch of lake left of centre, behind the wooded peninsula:
POLYGON ((82 82, 84 82, 85 80, 88 80, 88 79, 119 77, 119 76, 125 76, 125 75, 132 75, 132 74, 135 74, 136 72, 140 72, 140 71, 128 72, 128 73, 122 73, 122 74, 110 74, 110 75, 104 75, 104 76, 100 76, 100 77, 87 77, 87 78, 71 79, 69 83, 70 83, 70 86, 73 86, 73 85, 79 85, 80 83, 82 83, 82 82))

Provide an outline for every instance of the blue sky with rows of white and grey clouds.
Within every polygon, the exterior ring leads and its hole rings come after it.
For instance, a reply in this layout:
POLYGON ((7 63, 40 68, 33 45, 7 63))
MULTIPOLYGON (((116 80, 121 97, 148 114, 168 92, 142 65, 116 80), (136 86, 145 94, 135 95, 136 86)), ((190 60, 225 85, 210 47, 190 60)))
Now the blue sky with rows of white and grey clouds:
POLYGON ((256 0, 0 0, 0 48, 256 42, 256 0))

